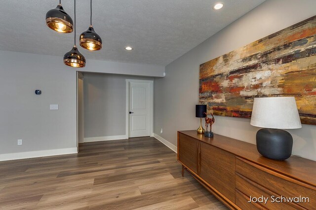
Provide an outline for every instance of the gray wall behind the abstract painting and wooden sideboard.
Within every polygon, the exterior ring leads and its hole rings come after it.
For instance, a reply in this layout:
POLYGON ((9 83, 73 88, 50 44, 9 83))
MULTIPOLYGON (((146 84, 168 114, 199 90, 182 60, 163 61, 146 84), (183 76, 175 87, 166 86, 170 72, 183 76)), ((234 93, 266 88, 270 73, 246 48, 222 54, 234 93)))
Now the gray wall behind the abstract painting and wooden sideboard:
MULTIPOLYGON (((155 79, 155 133, 176 145, 177 130, 197 129, 199 64, 316 15, 316 0, 267 0, 166 66, 155 79), (160 129, 163 133, 160 134, 160 129)), ((215 133, 255 144, 249 119, 215 116, 215 133)), ((316 160, 316 126, 288 130, 293 154, 316 160)))

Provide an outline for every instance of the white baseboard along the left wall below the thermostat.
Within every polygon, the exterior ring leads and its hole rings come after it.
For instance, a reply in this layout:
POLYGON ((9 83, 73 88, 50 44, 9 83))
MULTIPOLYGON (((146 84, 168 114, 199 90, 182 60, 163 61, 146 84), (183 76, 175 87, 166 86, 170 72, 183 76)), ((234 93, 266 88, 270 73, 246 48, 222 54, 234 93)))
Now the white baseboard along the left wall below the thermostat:
POLYGON ((45 157, 45 156, 61 155, 61 154, 75 154, 75 153, 77 153, 77 147, 57 149, 57 150, 25 151, 25 152, 17 152, 17 153, 0 154, 0 161, 26 159, 26 158, 33 158, 33 157, 45 157))

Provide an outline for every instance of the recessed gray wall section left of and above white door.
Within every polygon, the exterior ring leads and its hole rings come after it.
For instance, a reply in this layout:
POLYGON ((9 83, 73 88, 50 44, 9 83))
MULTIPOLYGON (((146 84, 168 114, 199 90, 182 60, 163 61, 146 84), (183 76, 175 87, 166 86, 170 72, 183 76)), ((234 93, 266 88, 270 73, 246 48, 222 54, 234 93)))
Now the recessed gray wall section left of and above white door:
POLYGON ((84 73, 84 138, 125 135, 125 79, 154 80, 151 77, 84 73))

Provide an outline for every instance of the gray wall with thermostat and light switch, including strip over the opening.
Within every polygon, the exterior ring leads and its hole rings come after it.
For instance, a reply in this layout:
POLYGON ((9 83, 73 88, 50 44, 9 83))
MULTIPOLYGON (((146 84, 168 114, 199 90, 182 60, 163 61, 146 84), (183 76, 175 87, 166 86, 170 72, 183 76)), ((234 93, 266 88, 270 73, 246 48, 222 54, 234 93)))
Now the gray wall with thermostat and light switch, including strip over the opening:
MULTIPOLYGON (((4 154, 77 147, 76 70, 158 76, 164 67, 87 60, 78 69, 62 57, 0 51, 0 160, 4 154), (49 104, 59 104, 59 110, 49 110, 49 104)), ((28 156, 32 152, 9 158, 28 156)))

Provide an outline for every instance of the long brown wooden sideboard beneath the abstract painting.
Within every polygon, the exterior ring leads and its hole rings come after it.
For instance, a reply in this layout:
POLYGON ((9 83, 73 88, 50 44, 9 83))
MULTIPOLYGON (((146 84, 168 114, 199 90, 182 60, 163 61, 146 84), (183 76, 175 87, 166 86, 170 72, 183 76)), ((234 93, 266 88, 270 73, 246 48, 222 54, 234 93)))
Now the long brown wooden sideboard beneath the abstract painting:
POLYGON ((268 159, 253 144, 196 130, 178 131, 178 161, 182 176, 189 172, 230 209, 316 210, 316 161, 268 159))

